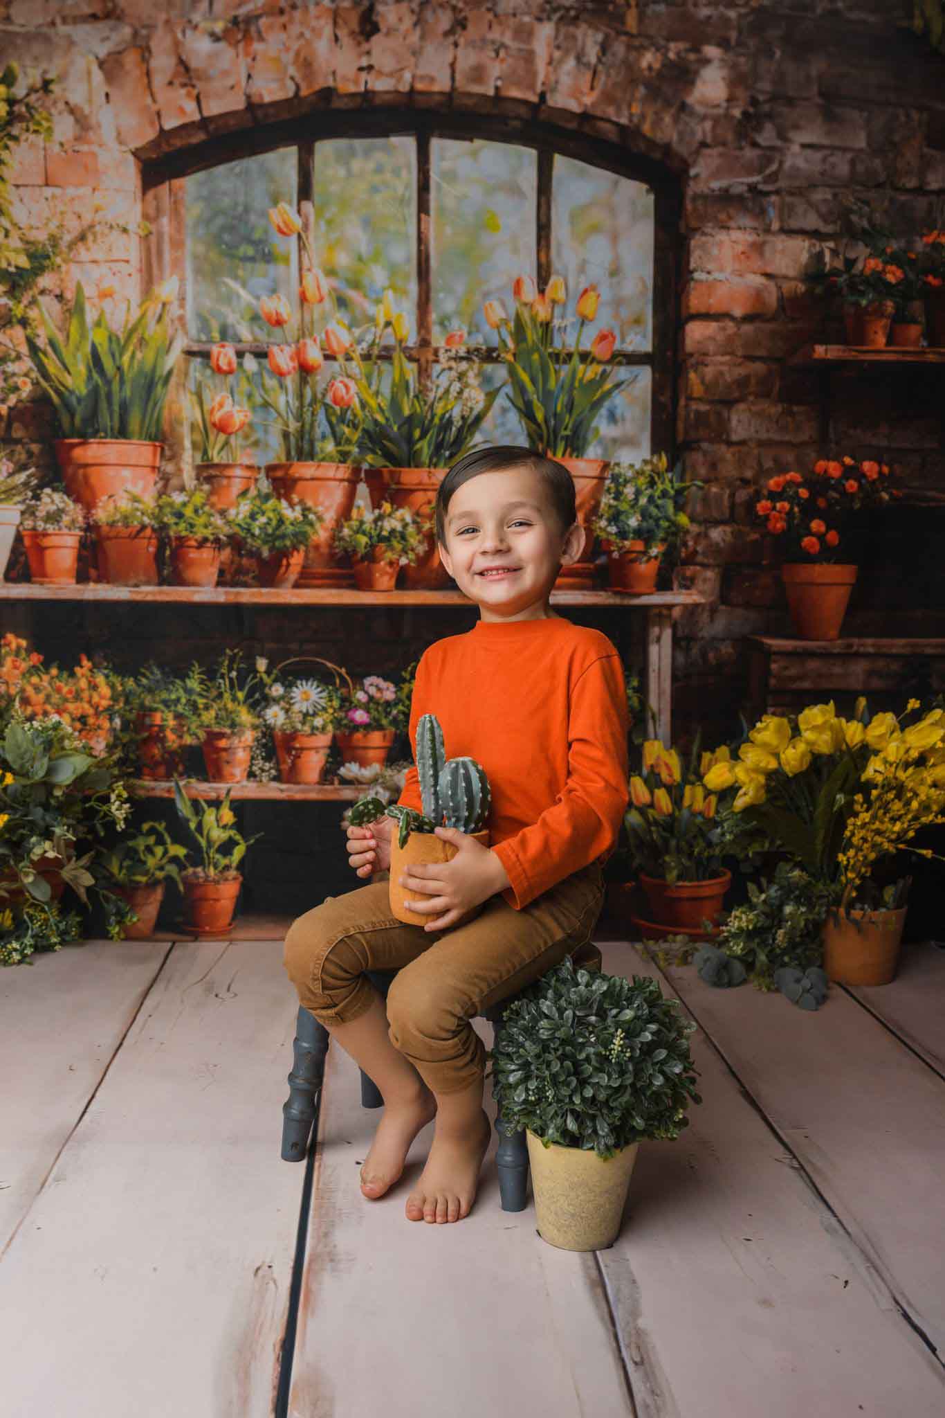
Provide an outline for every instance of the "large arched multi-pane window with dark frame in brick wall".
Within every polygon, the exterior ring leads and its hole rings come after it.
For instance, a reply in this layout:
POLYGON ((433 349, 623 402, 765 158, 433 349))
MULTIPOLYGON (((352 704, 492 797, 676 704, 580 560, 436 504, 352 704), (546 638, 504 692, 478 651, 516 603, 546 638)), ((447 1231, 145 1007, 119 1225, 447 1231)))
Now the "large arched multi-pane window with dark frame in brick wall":
MULTIPOLYGON (((588 455, 670 450, 674 279, 659 233, 674 228, 676 197, 655 164, 587 138, 555 142, 540 125, 333 111, 171 155, 145 180, 173 193, 167 247, 184 279, 191 362, 218 339, 265 352, 273 332, 259 298, 281 291, 292 302, 298 286, 298 240, 278 237, 266 217, 288 201, 309 223, 343 318, 371 322, 390 286, 409 315, 408 353, 424 373, 446 333, 465 326, 483 339, 475 357, 483 387, 494 387, 503 372, 483 302, 502 299, 510 311, 516 275, 544 285, 560 274, 572 312, 578 291, 596 284, 588 332, 611 328, 615 360, 635 377, 605 408, 588 455)), ((524 441, 507 398, 482 438, 524 441)), ((265 434, 256 451, 276 457, 265 434)))

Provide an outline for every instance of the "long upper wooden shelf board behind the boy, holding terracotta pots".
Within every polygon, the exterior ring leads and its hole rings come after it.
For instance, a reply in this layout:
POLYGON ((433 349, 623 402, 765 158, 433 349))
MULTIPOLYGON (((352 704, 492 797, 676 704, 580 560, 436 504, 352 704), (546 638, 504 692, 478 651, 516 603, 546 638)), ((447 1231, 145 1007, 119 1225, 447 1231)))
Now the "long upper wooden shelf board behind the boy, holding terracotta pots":
MULTIPOLYGON (((33 586, 31 581, 0 584, 4 601, 149 601, 188 605, 463 605, 476 603, 462 591, 358 591, 358 590, 273 590, 262 586, 102 586, 98 581, 65 586, 33 586)), ((628 596, 622 591, 551 591, 553 605, 698 605, 698 591, 653 591, 628 596)))

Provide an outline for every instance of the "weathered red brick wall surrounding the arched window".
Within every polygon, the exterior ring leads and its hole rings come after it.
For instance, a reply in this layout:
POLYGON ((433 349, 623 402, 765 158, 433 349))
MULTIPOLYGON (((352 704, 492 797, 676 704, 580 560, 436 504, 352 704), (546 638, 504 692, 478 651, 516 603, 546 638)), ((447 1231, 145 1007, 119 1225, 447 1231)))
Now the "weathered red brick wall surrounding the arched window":
MULTIPOLYGON (((707 484, 677 573, 707 597, 679 620, 677 702, 683 722, 698 712, 728 730, 742 637, 788 628, 752 489, 819 442, 819 376, 786 363, 820 319, 803 275, 849 196, 908 234, 945 190, 945 64, 901 26, 910 13, 910 0, 0 0, 4 52, 61 75, 54 140, 17 157, 17 213, 79 221, 101 201, 133 223, 139 160, 329 105, 538 118, 663 163, 684 191, 677 438, 707 484)), ((142 240, 116 234, 50 295, 98 275, 133 291, 140 271, 142 240)), ((941 376, 832 386, 832 445, 883 455, 908 485, 847 628, 945 634, 941 376)), ((3 434, 43 455, 44 431, 24 410, 3 434)), ((404 648, 404 662, 418 652, 404 648)))

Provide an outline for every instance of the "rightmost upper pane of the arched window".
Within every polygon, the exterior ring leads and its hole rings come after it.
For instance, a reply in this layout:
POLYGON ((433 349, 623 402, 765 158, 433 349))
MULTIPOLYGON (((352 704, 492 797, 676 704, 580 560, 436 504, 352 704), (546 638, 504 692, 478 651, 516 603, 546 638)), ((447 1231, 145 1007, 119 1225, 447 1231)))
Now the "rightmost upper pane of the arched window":
POLYGON ((653 193, 555 155, 551 197, 551 262, 568 282, 568 311, 582 286, 594 284, 601 305, 591 333, 612 329, 621 347, 649 350, 653 193))

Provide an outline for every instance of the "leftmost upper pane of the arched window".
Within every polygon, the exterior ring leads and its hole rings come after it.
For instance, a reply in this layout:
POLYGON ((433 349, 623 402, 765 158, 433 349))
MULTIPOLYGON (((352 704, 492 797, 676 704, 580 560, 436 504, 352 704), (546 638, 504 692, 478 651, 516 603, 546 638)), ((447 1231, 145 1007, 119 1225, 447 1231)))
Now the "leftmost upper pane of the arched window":
POLYGON ((266 216, 279 201, 296 201, 295 147, 186 179, 191 339, 259 339, 259 296, 273 291, 293 296, 296 242, 278 237, 266 216))

